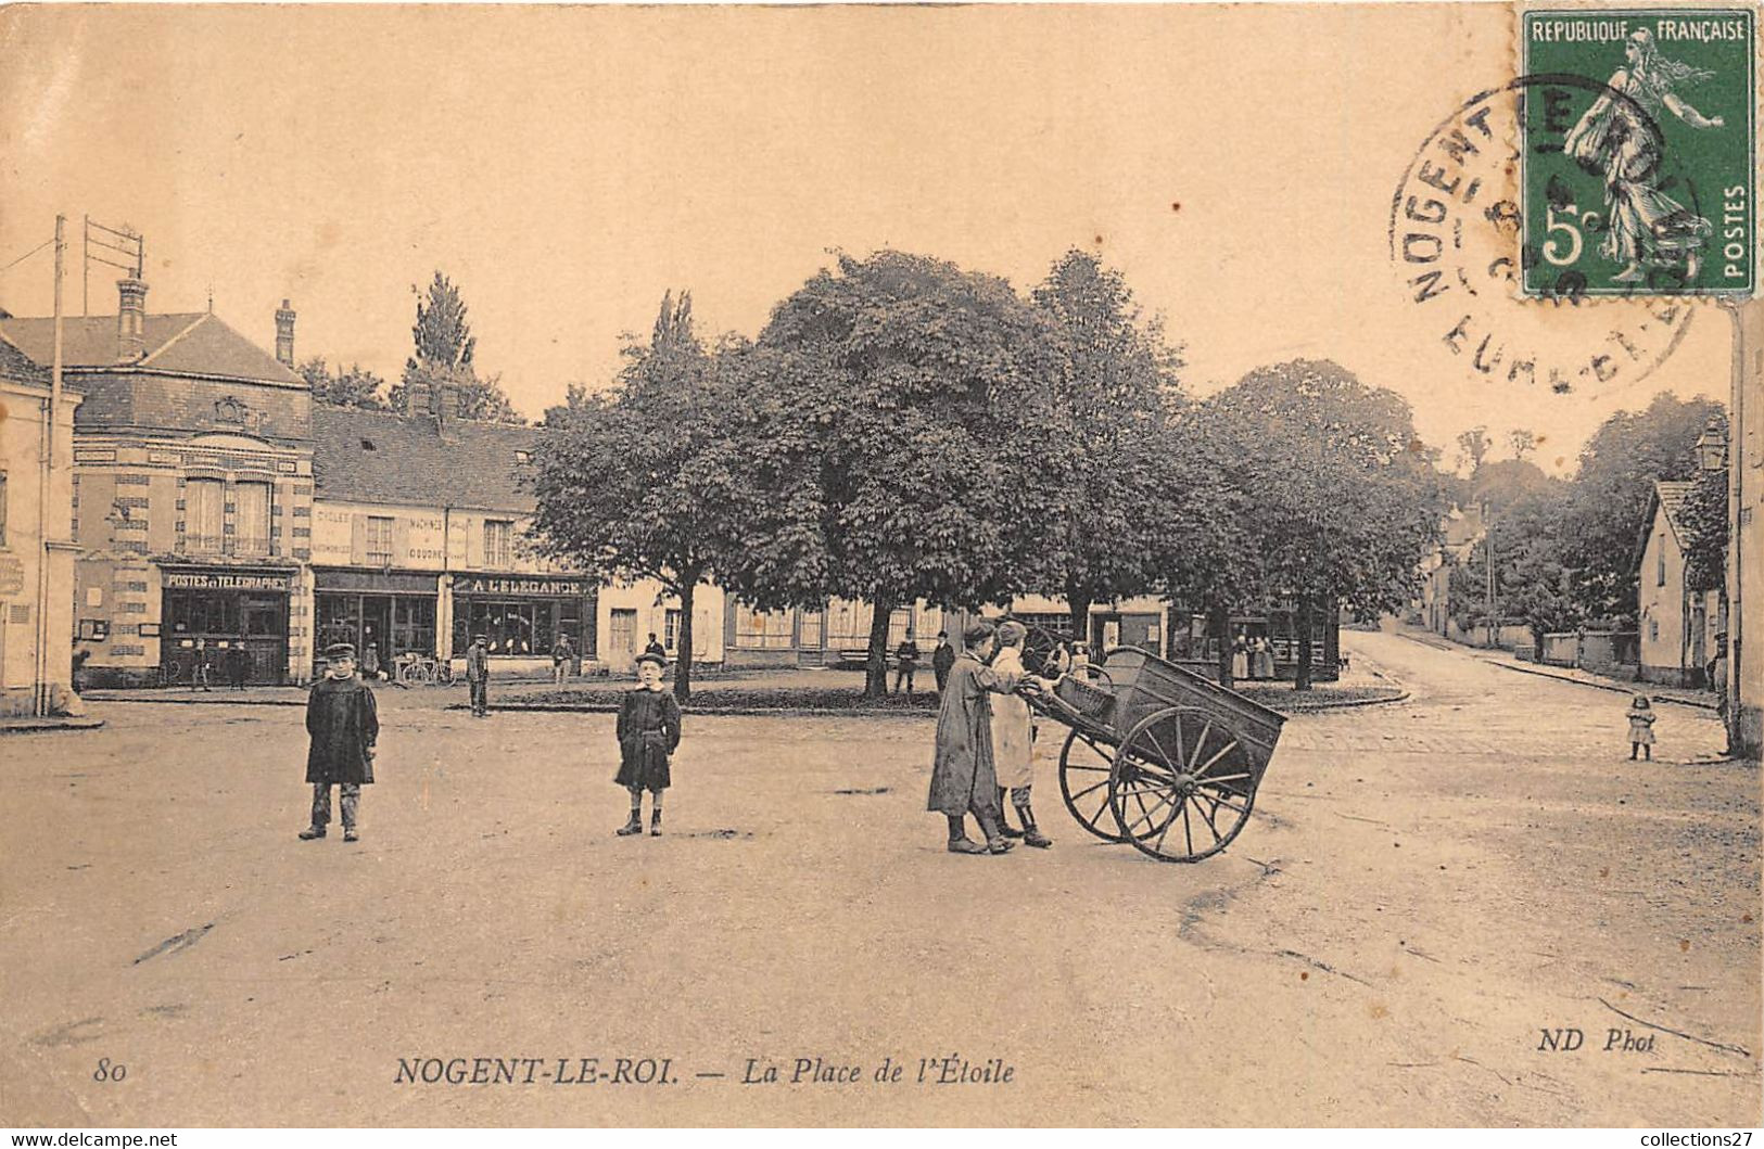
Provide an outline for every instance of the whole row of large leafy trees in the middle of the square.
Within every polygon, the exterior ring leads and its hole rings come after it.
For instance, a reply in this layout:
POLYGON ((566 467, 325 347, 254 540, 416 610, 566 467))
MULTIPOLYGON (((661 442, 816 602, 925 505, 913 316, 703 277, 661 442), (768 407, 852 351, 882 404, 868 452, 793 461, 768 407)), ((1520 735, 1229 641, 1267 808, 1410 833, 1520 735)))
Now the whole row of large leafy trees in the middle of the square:
MULTIPOLYGON (((1162 594, 1207 612, 1291 601, 1309 620, 1394 610, 1445 509, 1408 405, 1328 361, 1196 400, 1180 345, 1124 278, 1067 252, 1028 298, 884 250, 841 256, 755 338, 704 338, 665 298, 616 386, 572 388, 534 453, 540 548, 681 599, 873 604, 866 693, 894 606, 1162 594)), ((1221 677, 1230 678, 1228 641, 1221 677)), ((676 691, 691 689, 691 633, 676 691)))

